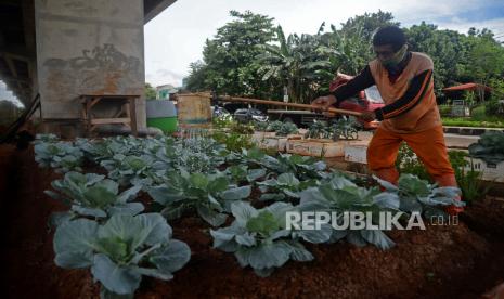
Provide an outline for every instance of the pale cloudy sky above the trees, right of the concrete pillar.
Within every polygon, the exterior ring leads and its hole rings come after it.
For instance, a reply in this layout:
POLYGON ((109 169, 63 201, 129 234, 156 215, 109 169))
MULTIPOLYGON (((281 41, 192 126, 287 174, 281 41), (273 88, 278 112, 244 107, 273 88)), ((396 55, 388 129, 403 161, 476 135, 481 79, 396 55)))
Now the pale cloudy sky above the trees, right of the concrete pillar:
POLYGON ((274 17, 288 34, 315 34, 322 22, 340 27, 348 18, 382 10, 409 27, 425 21, 466 34, 484 27, 504 41, 502 0, 178 0, 144 27, 145 80, 181 86, 189 65, 202 58, 207 38, 233 18, 231 10, 274 17))

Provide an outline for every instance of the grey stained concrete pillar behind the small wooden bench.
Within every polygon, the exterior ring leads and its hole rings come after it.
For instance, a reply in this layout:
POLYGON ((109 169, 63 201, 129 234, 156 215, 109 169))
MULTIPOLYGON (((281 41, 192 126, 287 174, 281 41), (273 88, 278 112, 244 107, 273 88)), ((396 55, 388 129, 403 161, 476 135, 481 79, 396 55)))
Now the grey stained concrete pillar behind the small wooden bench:
POLYGON ((141 94, 145 127, 143 0, 35 0, 35 18, 44 119, 79 118, 79 94, 141 94))

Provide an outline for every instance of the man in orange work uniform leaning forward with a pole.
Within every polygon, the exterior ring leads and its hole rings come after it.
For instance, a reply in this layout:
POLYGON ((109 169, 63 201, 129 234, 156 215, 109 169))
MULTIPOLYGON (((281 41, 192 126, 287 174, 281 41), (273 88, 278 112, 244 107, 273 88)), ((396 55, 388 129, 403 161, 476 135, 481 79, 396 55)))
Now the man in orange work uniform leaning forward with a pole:
MULTIPOLYGON (((358 76, 312 104, 322 108, 338 106, 341 101, 376 84, 385 106, 361 116, 365 121, 382 120, 367 147, 371 171, 397 184, 399 173, 395 162, 404 141, 439 186, 457 186, 434 93, 432 60, 409 51, 404 32, 396 26, 377 30, 373 36, 373 49, 376 58, 358 76)), ((452 212, 462 210, 451 209, 452 212)))

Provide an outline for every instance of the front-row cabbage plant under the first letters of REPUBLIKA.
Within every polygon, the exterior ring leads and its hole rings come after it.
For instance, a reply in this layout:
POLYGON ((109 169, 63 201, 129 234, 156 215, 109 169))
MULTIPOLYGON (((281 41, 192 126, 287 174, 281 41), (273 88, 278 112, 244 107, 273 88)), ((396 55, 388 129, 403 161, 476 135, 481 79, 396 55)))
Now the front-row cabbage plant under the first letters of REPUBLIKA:
POLYGON ((285 214, 294 210, 286 203, 274 203, 260 210, 249 203, 233 203, 234 222, 228 227, 210 230, 214 247, 234 253, 242 268, 250 265, 261 277, 271 275, 288 260, 311 261, 313 256, 300 239, 323 243, 329 238, 331 230, 287 230, 285 214))

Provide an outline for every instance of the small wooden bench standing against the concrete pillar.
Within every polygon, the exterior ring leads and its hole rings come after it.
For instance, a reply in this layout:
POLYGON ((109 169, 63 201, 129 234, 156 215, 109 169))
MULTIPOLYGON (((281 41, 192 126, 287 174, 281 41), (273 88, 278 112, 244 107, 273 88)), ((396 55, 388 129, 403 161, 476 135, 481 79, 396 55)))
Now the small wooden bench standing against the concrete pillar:
POLYGON ((88 135, 101 125, 122 123, 131 128, 131 133, 138 135, 137 106, 139 94, 81 94, 82 120, 88 135), (92 108, 100 102, 120 103, 120 110, 112 118, 93 118, 92 108))

